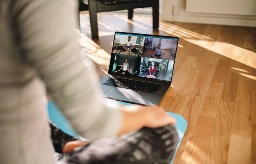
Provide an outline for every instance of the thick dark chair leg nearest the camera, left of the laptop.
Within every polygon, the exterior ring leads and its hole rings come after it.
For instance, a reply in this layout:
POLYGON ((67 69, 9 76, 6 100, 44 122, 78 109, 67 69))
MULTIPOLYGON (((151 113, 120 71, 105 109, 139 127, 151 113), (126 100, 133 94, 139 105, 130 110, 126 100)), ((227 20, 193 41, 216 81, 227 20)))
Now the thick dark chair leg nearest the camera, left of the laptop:
POLYGON ((92 38, 98 38, 99 35, 98 35, 96 0, 88 0, 88 3, 89 3, 89 15, 90 15, 92 38))

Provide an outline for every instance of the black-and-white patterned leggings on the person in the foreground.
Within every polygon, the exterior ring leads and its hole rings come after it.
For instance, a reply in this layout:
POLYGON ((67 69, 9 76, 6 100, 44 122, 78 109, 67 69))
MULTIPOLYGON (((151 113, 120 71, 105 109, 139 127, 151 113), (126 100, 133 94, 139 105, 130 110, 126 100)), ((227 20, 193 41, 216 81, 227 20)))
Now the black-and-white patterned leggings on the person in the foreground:
POLYGON ((169 164, 179 141, 174 125, 169 124, 159 128, 144 127, 62 153, 64 144, 76 138, 54 125, 51 128, 54 148, 60 149, 55 154, 57 164, 169 164))

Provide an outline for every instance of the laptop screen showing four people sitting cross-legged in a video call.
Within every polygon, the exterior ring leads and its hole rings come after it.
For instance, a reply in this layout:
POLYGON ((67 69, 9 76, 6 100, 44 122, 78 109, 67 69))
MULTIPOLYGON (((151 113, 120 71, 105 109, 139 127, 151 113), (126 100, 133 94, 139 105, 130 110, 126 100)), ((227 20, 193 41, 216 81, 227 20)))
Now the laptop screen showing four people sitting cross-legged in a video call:
POLYGON ((178 38, 116 32, 109 73, 171 81, 178 38))

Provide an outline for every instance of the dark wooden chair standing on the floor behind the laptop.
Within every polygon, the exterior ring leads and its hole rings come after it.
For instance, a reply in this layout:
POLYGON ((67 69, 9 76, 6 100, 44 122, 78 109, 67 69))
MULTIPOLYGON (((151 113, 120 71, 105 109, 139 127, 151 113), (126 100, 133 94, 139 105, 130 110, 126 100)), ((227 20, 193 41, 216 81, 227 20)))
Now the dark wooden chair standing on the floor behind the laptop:
POLYGON ((89 10, 92 38, 99 37, 97 13, 128 10, 128 19, 132 19, 133 9, 147 7, 152 7, 153 29, 157 30, 159 28, 159 0, 88 0, 88 6, 84 0, 79 1, 79 11, 89 10))

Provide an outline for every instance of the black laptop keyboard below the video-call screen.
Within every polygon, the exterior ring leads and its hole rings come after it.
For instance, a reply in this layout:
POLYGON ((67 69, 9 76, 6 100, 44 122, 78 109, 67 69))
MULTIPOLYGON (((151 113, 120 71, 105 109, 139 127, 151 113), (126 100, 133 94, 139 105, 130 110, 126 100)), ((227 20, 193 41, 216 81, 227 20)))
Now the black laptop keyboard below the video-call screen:
POLYGON ((156 93, 161 87, 160 84, 147 83, 142 81, 128 80, 124 78, 109 78, 103 85, 127 88, 135 91, 156 93))

